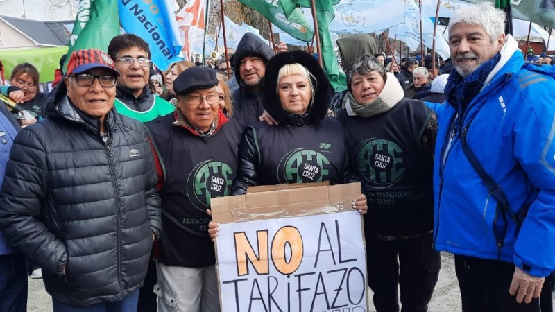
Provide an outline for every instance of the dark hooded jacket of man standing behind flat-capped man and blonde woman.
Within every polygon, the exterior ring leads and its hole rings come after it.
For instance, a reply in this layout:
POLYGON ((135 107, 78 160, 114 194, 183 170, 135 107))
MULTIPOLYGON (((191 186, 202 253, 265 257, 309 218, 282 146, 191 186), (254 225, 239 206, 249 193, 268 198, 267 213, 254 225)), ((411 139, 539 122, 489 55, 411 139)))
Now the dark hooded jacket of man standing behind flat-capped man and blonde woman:
POLYGON ((266 42, 260 40, 259 37, 253 33, 246 33, 239 44, 237 50, 233 55, 233 70, 239 88, 233 92, 233 118, 241 121, 246 125, 258 120, 258 117, 264 112, 262 101, 260 101, 259 93, 254 92, 253 89, 248 87, 241 79, 241 60, 246 56, 258 56, 262 58, 265 63, 273 57, 273 51, 266 42))

